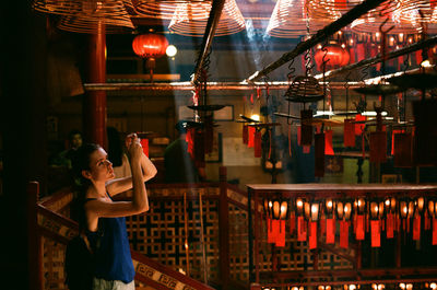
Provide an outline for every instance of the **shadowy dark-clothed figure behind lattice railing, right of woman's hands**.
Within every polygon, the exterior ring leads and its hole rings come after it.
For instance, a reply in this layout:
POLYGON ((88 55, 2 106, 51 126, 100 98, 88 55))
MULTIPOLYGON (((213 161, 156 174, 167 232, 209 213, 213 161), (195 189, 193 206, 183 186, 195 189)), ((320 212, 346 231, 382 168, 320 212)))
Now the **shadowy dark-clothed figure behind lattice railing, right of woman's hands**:
POLYGON ((175 128, 178 138, 164 151, 165 182, 166 183, 198 183, 204 181, 204 169, 196 167, 194 161, 188 152, 187 128, 189 121, 179 120, 175 128))

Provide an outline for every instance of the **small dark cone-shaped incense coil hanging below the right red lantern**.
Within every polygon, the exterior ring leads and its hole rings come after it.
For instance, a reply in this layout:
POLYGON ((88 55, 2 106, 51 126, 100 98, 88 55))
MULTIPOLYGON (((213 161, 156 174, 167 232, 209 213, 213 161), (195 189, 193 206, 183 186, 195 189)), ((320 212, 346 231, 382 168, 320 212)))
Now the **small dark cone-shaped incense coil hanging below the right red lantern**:
POLYGON ((297 76, 284 96, 288 102, 317 102, 323 98, 323 90, 314 77, 297 76))

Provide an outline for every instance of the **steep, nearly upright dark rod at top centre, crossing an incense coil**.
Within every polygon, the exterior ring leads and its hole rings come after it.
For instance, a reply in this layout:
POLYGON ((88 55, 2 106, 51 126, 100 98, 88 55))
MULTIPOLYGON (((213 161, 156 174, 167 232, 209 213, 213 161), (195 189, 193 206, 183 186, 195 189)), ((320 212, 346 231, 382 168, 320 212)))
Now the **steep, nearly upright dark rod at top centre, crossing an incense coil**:
POLYGON ((217 27, 222 10, 225 4, 225 0, 213 0, 212 8, 210 11, 210 18, 208 19, 205 33, 202 39, 202 46, 200 48, 199 57, 196 61, 194 72, 192 74, 191 82, 198 84, 201 70, 203 68, 204 60, 210 51, 212 39, 214 38, 215 28, 217 27))

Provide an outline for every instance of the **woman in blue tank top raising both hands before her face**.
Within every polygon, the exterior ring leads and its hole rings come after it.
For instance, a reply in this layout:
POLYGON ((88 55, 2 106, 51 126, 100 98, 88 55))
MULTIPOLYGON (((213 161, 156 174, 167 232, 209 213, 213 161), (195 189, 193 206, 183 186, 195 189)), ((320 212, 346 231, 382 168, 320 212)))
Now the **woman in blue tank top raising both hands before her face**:
POLYGON ((114 178, 113 163, 97 144, 82 146, 73 162, 73 169, 81 177, 81 190, 75 200, 76 217, 96 259, 94 290, 134 289, 125 217, 149 210, 144 182, 155 176, 156 169, 143 154, 137 135, 127 137, 127 147, 130 177, 114 178), (130 188, 133 189, 131 201, 113 201, 115 195, 130 188))

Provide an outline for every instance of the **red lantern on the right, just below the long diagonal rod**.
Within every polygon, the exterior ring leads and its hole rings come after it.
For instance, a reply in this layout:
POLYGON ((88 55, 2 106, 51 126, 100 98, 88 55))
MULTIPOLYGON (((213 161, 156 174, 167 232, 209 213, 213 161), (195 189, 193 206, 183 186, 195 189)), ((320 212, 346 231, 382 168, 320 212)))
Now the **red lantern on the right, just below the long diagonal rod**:
POLYGON ((346 49, 344 49, 343 47, 341 47, 338 44, 329 44, 324 47, 328 53, 323 51, 322 49, 318 49, 315 54, 315 60, 317 63, 317 68, 319 69, 319 71, 323 70, 323 56, 324 54, 327 54, 327 56, 324 57, 324 60, 328 61, 327 62, 327 67, 326 69, 336 69, 343 66, 346 66, 349 63, 350 60, 350 55, 349 51, 346 49))

